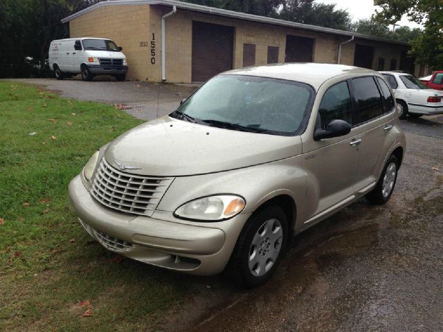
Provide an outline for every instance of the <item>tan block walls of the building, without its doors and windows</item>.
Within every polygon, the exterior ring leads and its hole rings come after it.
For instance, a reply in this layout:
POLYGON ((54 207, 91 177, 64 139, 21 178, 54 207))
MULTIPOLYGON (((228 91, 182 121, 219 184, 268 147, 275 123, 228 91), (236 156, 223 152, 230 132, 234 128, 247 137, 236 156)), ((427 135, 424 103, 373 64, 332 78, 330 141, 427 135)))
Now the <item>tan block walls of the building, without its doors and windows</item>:
MULTIPOLYGON (((113 39, 123 47, 127 56, 129 78, 161 82, 161 17, 171 10, 168 6, 160 5, 103 6, 73 19, 70 22, 71 37, 113 39)), ((191 82, 192 21, 234 27, 234 68, 243 66, 243 44, 255 44, 255 64, 260 65, 267 62, 268 46, 278 47, 278 61, 284 62, 287 35, 314 38, 313 61, 336 64, 338 45, 349 39, 327 33, 177 10, 165 23, 165 77, 168 82, 191 82)), ((355 44, 374 46, 374 69, 377 68, 379 57, 385 59, 385 70, 389 69, 392 58, 397 59, 398 68, 401 50, 406 49, 406 46, 355 39, 343 45, 341 64, 354 64, 355 44)))

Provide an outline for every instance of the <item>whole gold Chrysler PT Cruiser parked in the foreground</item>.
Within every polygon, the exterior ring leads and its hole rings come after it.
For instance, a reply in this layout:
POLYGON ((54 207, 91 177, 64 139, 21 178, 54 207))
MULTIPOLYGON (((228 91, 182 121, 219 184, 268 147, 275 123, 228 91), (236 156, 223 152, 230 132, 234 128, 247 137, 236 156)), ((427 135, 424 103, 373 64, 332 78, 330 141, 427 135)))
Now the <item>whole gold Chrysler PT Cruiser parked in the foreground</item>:
POLYGON ((69 196, 108 250, 195 275, 271 277, 295 234, 388 201, 405 151, 383 76, 334 64, 228 71, 91 157, 69 196))

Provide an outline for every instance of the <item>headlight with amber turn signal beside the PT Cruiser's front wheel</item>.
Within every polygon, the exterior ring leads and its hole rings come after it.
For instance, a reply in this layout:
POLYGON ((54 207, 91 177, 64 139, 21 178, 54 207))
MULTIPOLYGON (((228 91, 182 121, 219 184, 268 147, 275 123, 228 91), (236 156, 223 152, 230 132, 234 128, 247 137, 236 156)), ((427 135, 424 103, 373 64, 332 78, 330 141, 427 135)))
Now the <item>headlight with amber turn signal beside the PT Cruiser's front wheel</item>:
POLYGON ((181 205, 174 215, 182 219, 219 221, 230 219, 243 211, 246 202, 240 196, 202 197, 181 205))

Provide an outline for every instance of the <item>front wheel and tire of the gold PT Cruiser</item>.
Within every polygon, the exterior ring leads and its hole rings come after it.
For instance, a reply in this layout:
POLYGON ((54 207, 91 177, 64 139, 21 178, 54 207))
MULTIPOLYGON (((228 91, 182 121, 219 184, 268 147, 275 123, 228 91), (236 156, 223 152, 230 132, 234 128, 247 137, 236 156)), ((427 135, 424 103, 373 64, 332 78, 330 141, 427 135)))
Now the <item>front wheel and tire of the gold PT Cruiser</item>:
POLYGON ((228 263, 228 274, 239 286, 252 288, 271 278, 287 246, 287 225, 276 205, 248 219, 228 263))

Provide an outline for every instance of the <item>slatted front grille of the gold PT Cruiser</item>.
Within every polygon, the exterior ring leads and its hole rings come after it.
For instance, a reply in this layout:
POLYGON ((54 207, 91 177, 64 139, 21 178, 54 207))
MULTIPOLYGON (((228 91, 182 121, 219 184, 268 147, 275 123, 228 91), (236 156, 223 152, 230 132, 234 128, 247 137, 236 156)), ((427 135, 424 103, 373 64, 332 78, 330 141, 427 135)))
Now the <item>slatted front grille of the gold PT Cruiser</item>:
POLYGON ((102 158, 94 175, 91 194, 108 208, 150 216, 174 178, 122 172, 102 158))

